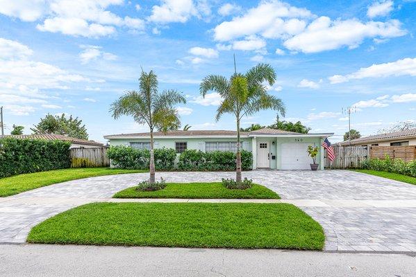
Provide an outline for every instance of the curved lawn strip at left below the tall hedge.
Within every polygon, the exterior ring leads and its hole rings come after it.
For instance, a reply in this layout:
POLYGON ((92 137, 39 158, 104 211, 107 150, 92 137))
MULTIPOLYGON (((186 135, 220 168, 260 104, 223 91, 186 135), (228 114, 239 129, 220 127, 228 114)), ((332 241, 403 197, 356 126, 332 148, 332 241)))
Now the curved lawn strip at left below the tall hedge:
POLYGON ((0 197, 17 195, 26 190, 87 177, 142 172, 140 170, 119 170, 110 168, 68 168, 35 172, 0 179, 0 197))

